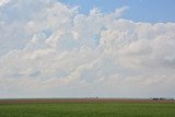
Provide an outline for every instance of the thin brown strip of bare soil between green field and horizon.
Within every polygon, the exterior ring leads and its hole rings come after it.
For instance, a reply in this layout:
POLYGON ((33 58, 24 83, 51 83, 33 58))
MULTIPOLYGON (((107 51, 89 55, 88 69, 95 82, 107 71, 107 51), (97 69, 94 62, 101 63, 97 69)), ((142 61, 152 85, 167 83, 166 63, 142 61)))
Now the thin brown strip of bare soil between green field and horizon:
POLYGON ((0 100, 0 104, 26 103, 175 103, 175 100, 152 98, 8 98, 0 100))

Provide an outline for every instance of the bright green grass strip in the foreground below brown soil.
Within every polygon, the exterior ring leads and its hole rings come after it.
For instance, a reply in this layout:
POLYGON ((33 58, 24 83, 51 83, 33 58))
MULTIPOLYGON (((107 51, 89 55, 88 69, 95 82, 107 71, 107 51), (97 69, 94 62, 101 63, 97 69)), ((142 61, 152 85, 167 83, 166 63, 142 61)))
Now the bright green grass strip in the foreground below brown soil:
POLYGON ((0 104, 0 117, 175 117, 173 103, 0 104))

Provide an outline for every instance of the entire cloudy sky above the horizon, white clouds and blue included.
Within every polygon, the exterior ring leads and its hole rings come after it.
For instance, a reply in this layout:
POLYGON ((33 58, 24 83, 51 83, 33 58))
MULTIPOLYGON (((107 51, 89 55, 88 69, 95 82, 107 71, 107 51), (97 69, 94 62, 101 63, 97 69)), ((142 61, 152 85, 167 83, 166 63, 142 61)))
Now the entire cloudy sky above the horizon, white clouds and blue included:
POLYGON ((174 0, 0 0, 0 98, 175 97, 174 0))

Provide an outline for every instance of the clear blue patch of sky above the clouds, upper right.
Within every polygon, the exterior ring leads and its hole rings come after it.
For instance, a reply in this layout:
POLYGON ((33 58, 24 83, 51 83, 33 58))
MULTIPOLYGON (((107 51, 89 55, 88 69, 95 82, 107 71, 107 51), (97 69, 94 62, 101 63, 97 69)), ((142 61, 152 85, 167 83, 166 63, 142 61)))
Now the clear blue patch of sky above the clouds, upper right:
POLYGON ((60 0, 69 5, 80 7, 80 12, 88 14, 93 8, 100 8, 103 12, 109 13, 116 8, 128 7, 124 19, 136 22, 174 22, 174 0, 60 0))

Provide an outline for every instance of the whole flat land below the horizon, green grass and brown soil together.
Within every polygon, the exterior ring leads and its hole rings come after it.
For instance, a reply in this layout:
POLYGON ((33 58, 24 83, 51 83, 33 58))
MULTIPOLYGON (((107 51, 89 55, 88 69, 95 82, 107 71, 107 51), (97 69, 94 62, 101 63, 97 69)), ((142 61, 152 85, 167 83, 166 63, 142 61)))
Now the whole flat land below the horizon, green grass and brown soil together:
POLYGON ((0 100, 0 117, 175 117, 175 101, 122 98, 0 100))

